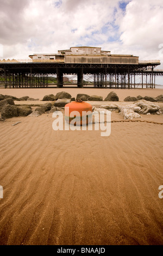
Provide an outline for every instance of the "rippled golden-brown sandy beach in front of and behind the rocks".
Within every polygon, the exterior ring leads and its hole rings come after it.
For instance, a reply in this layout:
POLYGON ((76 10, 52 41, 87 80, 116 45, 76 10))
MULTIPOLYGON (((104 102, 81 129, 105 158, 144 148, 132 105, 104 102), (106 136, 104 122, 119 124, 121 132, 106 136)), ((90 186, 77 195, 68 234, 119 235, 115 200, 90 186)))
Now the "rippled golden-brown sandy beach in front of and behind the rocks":
MULTIPOLYGON (((42 100, 64 91, 120 101, 162 89, 1 89, 42 100)), ((163 245, 163 115, 121 122, 111 135, 54 131, 52 113, 0 122, 0 245, 163 245), (16 122, 21 123, 12 126, 16 122)))

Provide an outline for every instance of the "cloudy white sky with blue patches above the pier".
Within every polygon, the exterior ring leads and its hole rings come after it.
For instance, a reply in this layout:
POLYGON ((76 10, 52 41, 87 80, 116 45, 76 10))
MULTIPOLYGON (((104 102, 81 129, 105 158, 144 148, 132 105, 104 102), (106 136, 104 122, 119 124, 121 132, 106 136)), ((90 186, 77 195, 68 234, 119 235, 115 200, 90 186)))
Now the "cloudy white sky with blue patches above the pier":
POLYGON ((162 0, 0 0, 0 58, 96 46, 163 69, 162 17, 162 0))

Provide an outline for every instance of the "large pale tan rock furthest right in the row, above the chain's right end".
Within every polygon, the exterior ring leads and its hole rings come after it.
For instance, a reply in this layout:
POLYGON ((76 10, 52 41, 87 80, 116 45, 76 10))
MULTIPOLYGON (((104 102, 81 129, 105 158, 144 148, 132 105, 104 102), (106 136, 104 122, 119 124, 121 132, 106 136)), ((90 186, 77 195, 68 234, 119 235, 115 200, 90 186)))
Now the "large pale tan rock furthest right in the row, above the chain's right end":
POLYGON ((160 108, 159 106, 155 105, 155 103, 146 100, 139 100, 135 102, 135 105, 141 108, 139 111, 140 114, 155 113, 159 111, 160 108))

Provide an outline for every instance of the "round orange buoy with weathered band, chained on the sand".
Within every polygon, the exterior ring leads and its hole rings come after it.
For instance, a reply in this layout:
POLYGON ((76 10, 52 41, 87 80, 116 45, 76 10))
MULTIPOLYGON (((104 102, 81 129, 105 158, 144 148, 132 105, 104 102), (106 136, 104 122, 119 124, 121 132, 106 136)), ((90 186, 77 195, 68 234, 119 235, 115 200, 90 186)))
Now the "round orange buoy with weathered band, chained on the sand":
POLYGON ((67 123, 70 124, 73 119, 76 119, 77 122, 74 124, 88 124, 89 117, 92 117, 91 104, 77 100, 65 105, 65 120, 67 123))

